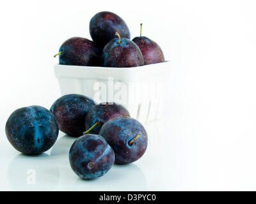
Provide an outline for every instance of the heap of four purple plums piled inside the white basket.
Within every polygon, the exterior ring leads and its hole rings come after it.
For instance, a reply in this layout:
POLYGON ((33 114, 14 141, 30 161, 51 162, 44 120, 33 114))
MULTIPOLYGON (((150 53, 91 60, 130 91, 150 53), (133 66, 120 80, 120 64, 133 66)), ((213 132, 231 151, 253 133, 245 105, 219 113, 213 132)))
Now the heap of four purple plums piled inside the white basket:
MULTIPOLYGON (((142 27, 142 24, 141 24, 142 27)), ((102 11, 90 20, 92 40, 66 40, 58 54, 60 64, 129 68, 164 62, 163 51, 153 40, 140 36, 130 40, 127 24, 115 13, 102 11)))

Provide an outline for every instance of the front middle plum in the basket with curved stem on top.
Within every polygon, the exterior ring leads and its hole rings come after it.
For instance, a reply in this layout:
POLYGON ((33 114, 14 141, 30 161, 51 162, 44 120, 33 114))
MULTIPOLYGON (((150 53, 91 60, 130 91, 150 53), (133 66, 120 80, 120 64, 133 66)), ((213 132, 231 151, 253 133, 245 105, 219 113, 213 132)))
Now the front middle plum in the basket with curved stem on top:
POLYGON ((140 48, 127 38, 118 38, 109 41, 102 50, 102 66, 113 68, 130 68, 144 65, 140 48))

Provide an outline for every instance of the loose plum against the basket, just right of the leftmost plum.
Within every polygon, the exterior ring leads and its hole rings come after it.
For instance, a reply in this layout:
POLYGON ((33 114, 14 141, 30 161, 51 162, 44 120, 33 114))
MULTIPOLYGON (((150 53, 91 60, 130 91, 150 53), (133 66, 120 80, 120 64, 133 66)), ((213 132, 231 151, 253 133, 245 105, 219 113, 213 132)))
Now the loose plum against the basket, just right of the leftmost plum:
POLYGON ((51 106, 61 131, 70 136, 81 136, 86 130, 85 117, 95 105, 91 98, 81 94, 67 94, 57 99, 51 106))

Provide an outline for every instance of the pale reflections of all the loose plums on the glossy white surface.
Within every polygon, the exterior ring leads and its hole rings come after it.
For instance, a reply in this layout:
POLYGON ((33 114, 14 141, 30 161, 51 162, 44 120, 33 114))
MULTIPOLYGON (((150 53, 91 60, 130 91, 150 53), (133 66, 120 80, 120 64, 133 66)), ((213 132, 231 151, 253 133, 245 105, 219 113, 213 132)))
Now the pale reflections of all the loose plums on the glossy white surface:
MULTIPOLYGON (((118 165, 94 180, 80 179, 72 171, 68 152, 76 138, 62 136, 51 154, 18 154, 7 170, 8 183, 14 191, 147 191, 145 173, 137 164, 118 165)), ((143 168, 144 169, 144 168, 143 168)), ((157 177, 152 177, 156 179, 157 177)), ((150 179, 150 180, 152 180, 150 179)))

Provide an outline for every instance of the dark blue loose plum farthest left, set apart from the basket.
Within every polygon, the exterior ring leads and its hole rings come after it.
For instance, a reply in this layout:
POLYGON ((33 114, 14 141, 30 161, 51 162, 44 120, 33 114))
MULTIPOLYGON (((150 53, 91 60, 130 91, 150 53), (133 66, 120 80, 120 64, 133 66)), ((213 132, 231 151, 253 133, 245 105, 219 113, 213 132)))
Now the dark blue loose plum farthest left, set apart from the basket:
POLYGON ((28 106, 10 115, 5 132, 9 142, 19 152, 41 154, 56 142, 59 129, 49 110, 42 106, 28 106))

